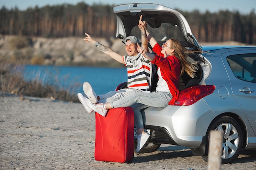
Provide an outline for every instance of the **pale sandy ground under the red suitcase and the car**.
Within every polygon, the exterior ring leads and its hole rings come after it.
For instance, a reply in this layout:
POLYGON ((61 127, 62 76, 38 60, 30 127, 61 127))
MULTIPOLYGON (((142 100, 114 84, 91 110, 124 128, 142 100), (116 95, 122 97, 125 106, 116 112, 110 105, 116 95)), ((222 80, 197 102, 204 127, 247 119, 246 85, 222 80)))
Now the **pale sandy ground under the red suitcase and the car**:
MULTIPOLYGON (((186 147, 162 145, 132 163, 94 159, 95 117, 79 103, 0 92, 1 170, 207 170, 186 147)), ((107 134, 106 134, 107 135, 107 134)), ((222 170, 255 170, 255 150, 243 151, 222 170)))

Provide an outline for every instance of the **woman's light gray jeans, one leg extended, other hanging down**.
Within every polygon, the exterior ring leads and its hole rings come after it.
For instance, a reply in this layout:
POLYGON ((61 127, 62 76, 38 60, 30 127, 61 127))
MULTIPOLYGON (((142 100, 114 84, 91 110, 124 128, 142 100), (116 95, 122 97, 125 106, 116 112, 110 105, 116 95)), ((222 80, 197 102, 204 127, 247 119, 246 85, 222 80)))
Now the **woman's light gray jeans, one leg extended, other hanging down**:
POLYGON ((112 102, 112 108, 132 107, 134 110, 134 124, 137 129, 144 128, 143 118, 139 110, 148 106, 166 107, 172 95, 168 92, 134 92, 127 97, 112 102))

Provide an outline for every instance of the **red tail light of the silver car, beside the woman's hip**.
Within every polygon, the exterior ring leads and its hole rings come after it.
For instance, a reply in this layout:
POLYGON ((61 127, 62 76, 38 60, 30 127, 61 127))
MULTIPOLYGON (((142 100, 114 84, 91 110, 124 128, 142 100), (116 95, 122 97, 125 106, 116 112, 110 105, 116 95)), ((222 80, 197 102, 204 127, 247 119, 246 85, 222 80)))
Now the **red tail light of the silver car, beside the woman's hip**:
POLYGON ((215 86, 213 85, 200 85, 186 88, 180 92, 179 98, 174 105, 189 106, 203 97, 213 93, 214 90, 215 86))

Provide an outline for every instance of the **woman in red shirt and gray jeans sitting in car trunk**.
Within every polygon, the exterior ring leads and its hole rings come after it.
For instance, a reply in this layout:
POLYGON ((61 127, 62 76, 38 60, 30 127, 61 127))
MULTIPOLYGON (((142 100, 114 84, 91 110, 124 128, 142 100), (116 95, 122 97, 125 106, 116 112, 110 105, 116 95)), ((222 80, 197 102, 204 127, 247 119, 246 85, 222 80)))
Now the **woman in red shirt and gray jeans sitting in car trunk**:
POLYGON ((119 99, 115 102, 89 104, 89 107, 97 113, 106 113, 108 109, 111 108, 129 107, 137 103, 143 104, 144 108, 148 106, 166 107, 170 101, 173 101, 174 103, 179 94, 178 84, 180 73, 182 71, 182 64, 180 60, 175 57, 175 50, 171 48, 171 46, 176 46, 174 45, 175 43, 180 42, 170 39, 163 44, 161 52, 164 54, 164 57, 153 53, 146 53, 145 49, 139 46, 139 53, 158 66, 157 74, 159 80, 157 82, 156 92, 135 92, 130 96, 124 97, 123 99, 119 99))

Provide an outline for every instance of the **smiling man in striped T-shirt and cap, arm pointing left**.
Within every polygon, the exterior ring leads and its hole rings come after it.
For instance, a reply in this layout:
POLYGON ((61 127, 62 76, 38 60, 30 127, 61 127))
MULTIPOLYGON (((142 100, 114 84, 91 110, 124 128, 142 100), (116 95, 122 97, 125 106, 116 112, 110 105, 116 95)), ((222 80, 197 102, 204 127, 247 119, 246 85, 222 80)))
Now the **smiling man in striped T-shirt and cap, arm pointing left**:
MULTIPOLYGON (((138 52, 137 43, 139 43, 139 41, 135 36, 129 36, 124 41, 126 52, 128 55, 119 55, 118 53, 112 51, 109 47, 104 46, 94 40, 88 33, 85 33, 85 35, 87 35, 87 37, 83 40, 85 40, 86 42, 90 42, 91 44, 95 44, 95 46, 103 53, 109 55, 117 62, 125 64, 127 66, 128 74, 127 88, 120 89, 118 91, 110 91, 104 95, 96 95, 91 85, 88 82, 85 82, 83 84, 83 91, 87 95, 88 99, 90 99, 90 101, 81 93, 78 93, 77 95, 80 102, 83 104, 85 110, 88 113, 93 112, 93 110, 88 107, 88 103, 110 103, 126 97, 134 92, 150 92, 150 85, 153 77, 151 63, 148 59, 146 59, 146 57, 138 52)), ((148 47, 146 46, 146 48, 148 47)))

